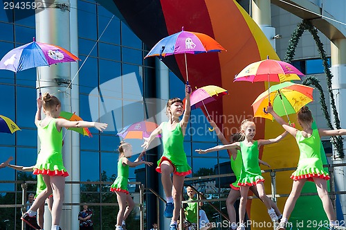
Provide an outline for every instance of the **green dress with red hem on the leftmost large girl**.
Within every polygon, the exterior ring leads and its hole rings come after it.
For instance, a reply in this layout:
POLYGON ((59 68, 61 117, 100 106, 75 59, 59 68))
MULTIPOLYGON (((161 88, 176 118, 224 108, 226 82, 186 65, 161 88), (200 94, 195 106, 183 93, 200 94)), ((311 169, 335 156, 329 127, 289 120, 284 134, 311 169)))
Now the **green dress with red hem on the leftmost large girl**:
POLYGON ((62 132, 57 131, 56 121, 56 118, 52 118, 46 126, 37 127, 41 150, 34 166, 35 175, 69 176, 62 161, 62 132))

